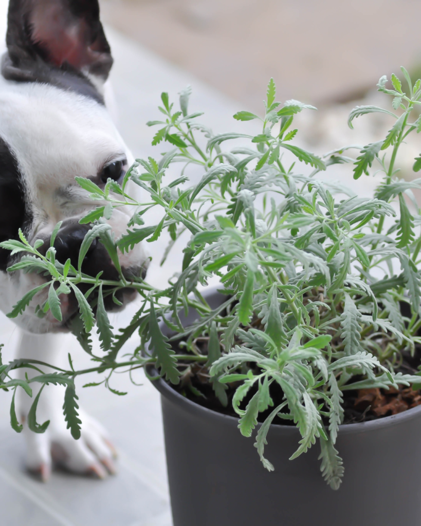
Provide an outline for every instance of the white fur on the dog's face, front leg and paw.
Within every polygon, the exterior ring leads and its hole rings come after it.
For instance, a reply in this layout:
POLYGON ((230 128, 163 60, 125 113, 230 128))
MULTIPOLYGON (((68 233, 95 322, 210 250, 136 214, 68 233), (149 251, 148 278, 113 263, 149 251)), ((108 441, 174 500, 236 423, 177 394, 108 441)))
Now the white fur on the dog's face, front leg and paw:
MULTIPOLYGON (((98 81, 95 84, 98 86, 98 81)), ((105 106, 73 92, 40 83, 17 83, 0 76, 0 137, 12 148, 24 175, 27 198, 31 200, 34 221, 29 241, 46 239, 60 220, 78 219, 97 206, 88 194, 75 185, 75 176, 95 177, 106 163, 127 159, 132 155, 119 135, 105 106), (66 190, 63 193, 63 190, 66 190)), ((133 211, 114 211, 109 224, 115 236, 126 230, 133 211)), ((145 256, 141 248, 129 255, 120 255, 122 266, 142 264, 145 256)), ((34 274, 0 272, 0 308, 9 312, 18 298, 45 278, 34 274)), ((60 365, 61 338, 51 332, 60 330, 51 316, 43 319, 35 315, 35 306, 45 299, 47 292, 36 296, 24 314, 16 321, 22 329, 18 358, 30 358, 52 365, 60 365), (44 295, 44 296, 43 296, 44 295)), ((66 304, 63 304, 66 318, 66 304)), ((29 372, 29 371, 28 371, 29 372)), ((21 375, 25 372, 22 371, 21 375)), ((36 374, 36 373, 34 373, 36 374)), ((31 375, 29 375, 31 376, 31 375)), ((34 375, 32 375, 34 376, 34 375)), ((48 478, 52 457, 67 469, 94 472, 104 477, 113 472, 113 448, 104 429, 83 411, 82 437, 75 441, 63 417, 63 390, 48 387, 38 403, 38 421, 50 420, 46 433, 36 434, 26 426, 26 418, 33 398, 21 395, 18 413, 24 422, 27 444, 27 466, 48 478)), ((38 387, 39 388, 39 387, 38 387)))

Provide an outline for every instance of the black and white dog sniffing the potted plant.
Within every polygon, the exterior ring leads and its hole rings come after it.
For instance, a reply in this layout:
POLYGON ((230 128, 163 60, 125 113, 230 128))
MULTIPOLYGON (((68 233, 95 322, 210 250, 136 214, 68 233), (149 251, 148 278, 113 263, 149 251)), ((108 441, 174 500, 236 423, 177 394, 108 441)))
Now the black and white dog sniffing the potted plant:
MULTIPOLYGON (((63 221, 55 242, 57 258, 74 260, 86 233, 78 220, 97 206, 75 183, 75 176, 101 186, 109 177, 121 180, 132 162, 104 102, 113 59, 98 1, 11 0, 6 44, 0 76, 0 241, 16 239, 22 228, 29 241, 48 242, 54 226, 63 221)), ((129 212, 113 213, 109 224, 116 237, 126 230, 129 212)), ((145 256, 140 247, 120 256, 128 274, 142 271, 145 256)), ((9 258, 10 253, 0 249, 0 308, 6 313, 45 279, 19 271, 8 274, 9 258)), ((99 243, 86 265, 94 275, 103 270, 108 279, 116 277, 99 243)), ((128 292, 123 302, 132 297, 128 292)), ((35 297, 17 319, 23 329, 18 357, 54 363, 61 352, 61 336, 54 333, 67 330, 77 306, 69 297, 62 302, 63 322, 52 316, 40 319, 35 306, 45 299, 35 297)), ((30 403, 28 397, 21 401, 23 420, 30 403)), ((82 414, 82 437, 73 440, 62 404, 62 396, 41 397, 38 417, 51 420, 47 432, 24 428, 28 468, 46 479, 56 455, 71 471, 92 471, 100 477, 113 472, 113 450, 101 426, 82 414)))

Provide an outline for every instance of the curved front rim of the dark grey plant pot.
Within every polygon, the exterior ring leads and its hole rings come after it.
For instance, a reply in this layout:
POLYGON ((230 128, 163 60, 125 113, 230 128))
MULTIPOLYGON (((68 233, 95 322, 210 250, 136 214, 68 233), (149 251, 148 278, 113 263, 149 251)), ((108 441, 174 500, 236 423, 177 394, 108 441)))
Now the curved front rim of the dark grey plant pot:
MULTIPOLYGON (((207 407, 201 406, 200 404, 189 400, 188 398, 181 395, 175 389, 168 385, 168 383, 163 378, 158 378, 158 371, 152 366, 148 367, 148 374, 152 378, 157 378, 157 380, 151 380, 152 385, 161 393, 161 396, 164 396, 168 400, 181 405, 188 413, 193 416, 207 416, 211 420, 225 420, 226 423, 231 426, 238 427, 238 419, 230 416, 229 414, 220 413, 214 411, 213 409, 208 409, 207 407)), ((367 422, 358 422, 352 424, 341 424, 339 426, 339 434, 353 434, 369 431, 377 431, 378 429, 397 426, 403 422, 413 420, 419 417, 421 414, 421 404, 417 407, 407 409, 402 413, 392 414, 388 417, 378 418, 376 420, 369 420, 367 422)), ((258 429, 262 423, 258 422, 256 428, 258 429)), ((296 434, 299 433, 298 429, 295 426, 284 426, 283 424, 270 424, 271 430, 277 430, 280 434, 296 434)))

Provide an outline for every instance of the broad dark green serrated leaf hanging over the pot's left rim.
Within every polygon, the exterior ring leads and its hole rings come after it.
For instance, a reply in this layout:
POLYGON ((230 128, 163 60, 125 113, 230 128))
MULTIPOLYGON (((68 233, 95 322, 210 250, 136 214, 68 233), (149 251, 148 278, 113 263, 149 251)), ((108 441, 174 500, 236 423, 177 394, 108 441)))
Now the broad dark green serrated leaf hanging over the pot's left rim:
POLYGON ((175 352, 168 343, 168 338, 163 335, 156 319, 155 307, 151 301, 151 315, 149 318, 149 335, 151 342, 150 349, 156 358, 156 367, 161 369, 162 375, 173 384, 180 382, 180 373, 177 369, 177 361, 174 358, 175 352))

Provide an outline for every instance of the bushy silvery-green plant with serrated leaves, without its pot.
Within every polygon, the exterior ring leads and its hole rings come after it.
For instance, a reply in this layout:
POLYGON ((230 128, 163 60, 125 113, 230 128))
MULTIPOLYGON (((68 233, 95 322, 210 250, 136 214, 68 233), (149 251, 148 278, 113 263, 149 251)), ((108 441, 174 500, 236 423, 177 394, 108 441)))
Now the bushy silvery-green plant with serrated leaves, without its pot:
MULTIPOLYGON (((344 418, 343 393, 400 385, 418 388, 421 383, 419 376, 398 370, 403 353, 414 355, 421 327, 421 213, 411 191, 421 188, 421 179, 399 179, 395 166, 406 136, 421 131, 418 113, 411 120, 414 108, 421 104, 421 80, 412 86, 406 70, 402 71, 408 93, 395 75, 391 87, 386 77, 378 83, 380 92, 393 96, 394 111, 357 106, 351 112, 350 127, 355 118, 375 112, 387 114, 391 123, 385 139, 358 149, 356 158, 348 156, 355 146, 323 158, 296 146, 294 117, 315 108, 297 100, 275 102, 273 79, 262 117, 249 112, 234 115, 244 122, 244 133, 215 135, 199 124, 202 114, 188 110, 189 89, 180 94, 179 110, 163 93, 161 119, 147 124, 159 127, 152 144, 166 143, 166 153, 136 160, 121 186, 110 179, 101 188, 76 178, 98 205, 81 220, 92 228, 83 241, 78 268, 70 260, 55 259, 59 225, 46 255, 38 251, 41 241, 31 246, 22 232, 19 240, 1 244, 21 255, 10 272, 37 271, 47 276, 45 284, 19 300, 9 316, 17 317, 36 300, 39 290, 48 287, 48 300, 39 305, 39 315, 51 310, 61 319, 59 295, 74 294, 80 319, 74 319, 73 330, 91 354, 93 367, 74 370, 69 357, 68 370, 55 368, 57 372, 45 374, 47 364, 15 360, 0 367, 0 387, 23 388, 31 394, 32 382, 65 384, 64 413, 78 438, 81 422, 74 380, 85 372, 98 372, 103 378, 95 385, 109 389, 112 373, 121 368, 131 371, 153 365, 175 388, 188 384, 192 375, 208 375, 221 406, 231 403, 238 414, 244 436, 252 435, 259 413, 273 408, 255 435, 266 469, 274 469, 264 457, 270 425, 292 420, 302 438, 291 459, 318 439, 323 476, 332 488, 339 488, 344 467, 335 442, 344 418), (260 122, 261 133, 247 133, 250 120, 260 122), (226 149, 238 138, 247 146, 226 149), (289 160, 292 157, 294 162, 289 160), (180 176, 166 184, 167 169, 173 163, 181 163, 180 176), (335 170, 337 164, 348 164, 354 179, 377 174, 374 195, 361 197, 318 179, 321 171, 335 170), (185 175, 189 165, 202 172, 193 187, 185 175), (126 193, 129 180, 142 188, 143 201, 126 193), (114 239, 106 219, 115 208, 128 205, 133 207, 133 217, 127 232, 114 239), (151 208, 161 210, 161 221, 145 226, 145 214, 151 208), (140 278, 127 282, 118 252, 144 240, 154 242, 165 230, 171 242, 163 260, 170 250, 181 250, 181 237, 189 234, 182 268, 163 290, 140 278), (95 238, 105 245, 120 271, 119 281, 103 280, 101 273, 96 277, 83 273, 82 261, 95 238), (206 286, 215 275, 225 301, 213 309, 199 286, 206 286), (89 285, 86 294, 80 284, 89 285), (104 296, 112 295, 118 302, 116 291, 127 286, 139 292, 141 307, 131 323, 116 333, 104 296), (409 316, 403 314, 404 305, 409 316), (183 327, 179 313, 189 308, 197 311, 198 318, 183 327), (95 324, 101 341, 99 356, 93 355, 89 338, 95 324), (136 331, 139 346, 133 355, 121 358, 124 343, 136 331), (199 345, 201 341, 206 345, 199 345), (20 367, 39 374, 27 381, 13 379, 11 372, 20 367), (282 392, 279 399, 273 396, 275 385, 282 392), (228 398, 230 391, 235 392, 228 398)), ((414 161, 414 171, 420 168, 421 155, 414 161)), ((36 422, 38 398, 28 425, 42 432, 48 423, 36 422)), ((22 429, 14 395, 11 423, 16 431, 22 429)))

